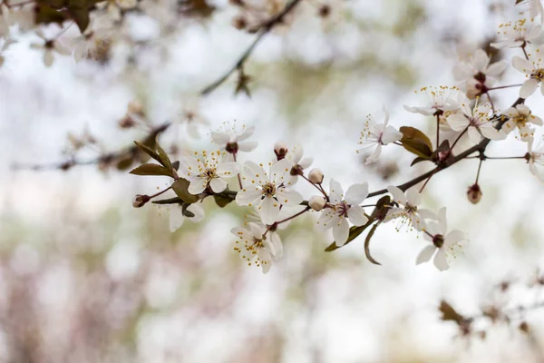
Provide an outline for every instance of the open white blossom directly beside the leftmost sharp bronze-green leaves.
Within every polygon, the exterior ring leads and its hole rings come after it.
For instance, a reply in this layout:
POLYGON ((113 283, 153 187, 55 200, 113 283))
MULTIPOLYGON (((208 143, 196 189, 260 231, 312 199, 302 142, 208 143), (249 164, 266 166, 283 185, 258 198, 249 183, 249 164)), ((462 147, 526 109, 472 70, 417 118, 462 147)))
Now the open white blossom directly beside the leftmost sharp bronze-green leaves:
POLYGON ((199 194, 210 188, 219 193, 227 188, 226 179, 238 175, 238 162, 224 162, 226 152, 195 152, 195 156, 183 156, 180 160, 180 175, 189 183, 189 193, 199 194))

